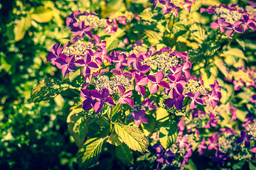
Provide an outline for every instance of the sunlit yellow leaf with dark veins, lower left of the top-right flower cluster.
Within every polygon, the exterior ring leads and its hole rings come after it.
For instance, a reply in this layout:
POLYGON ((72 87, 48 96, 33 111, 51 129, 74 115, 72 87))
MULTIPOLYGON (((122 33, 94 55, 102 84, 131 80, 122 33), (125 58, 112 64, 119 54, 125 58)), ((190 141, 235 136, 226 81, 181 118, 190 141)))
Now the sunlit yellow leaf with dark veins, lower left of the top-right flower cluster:
POLYGON ((189 30, 191 31, 191 35, 193 35, 194 39, 199 43, 202 43, 206 40, 206 30, 202 28, 199 23, 193 23, 189 30))

